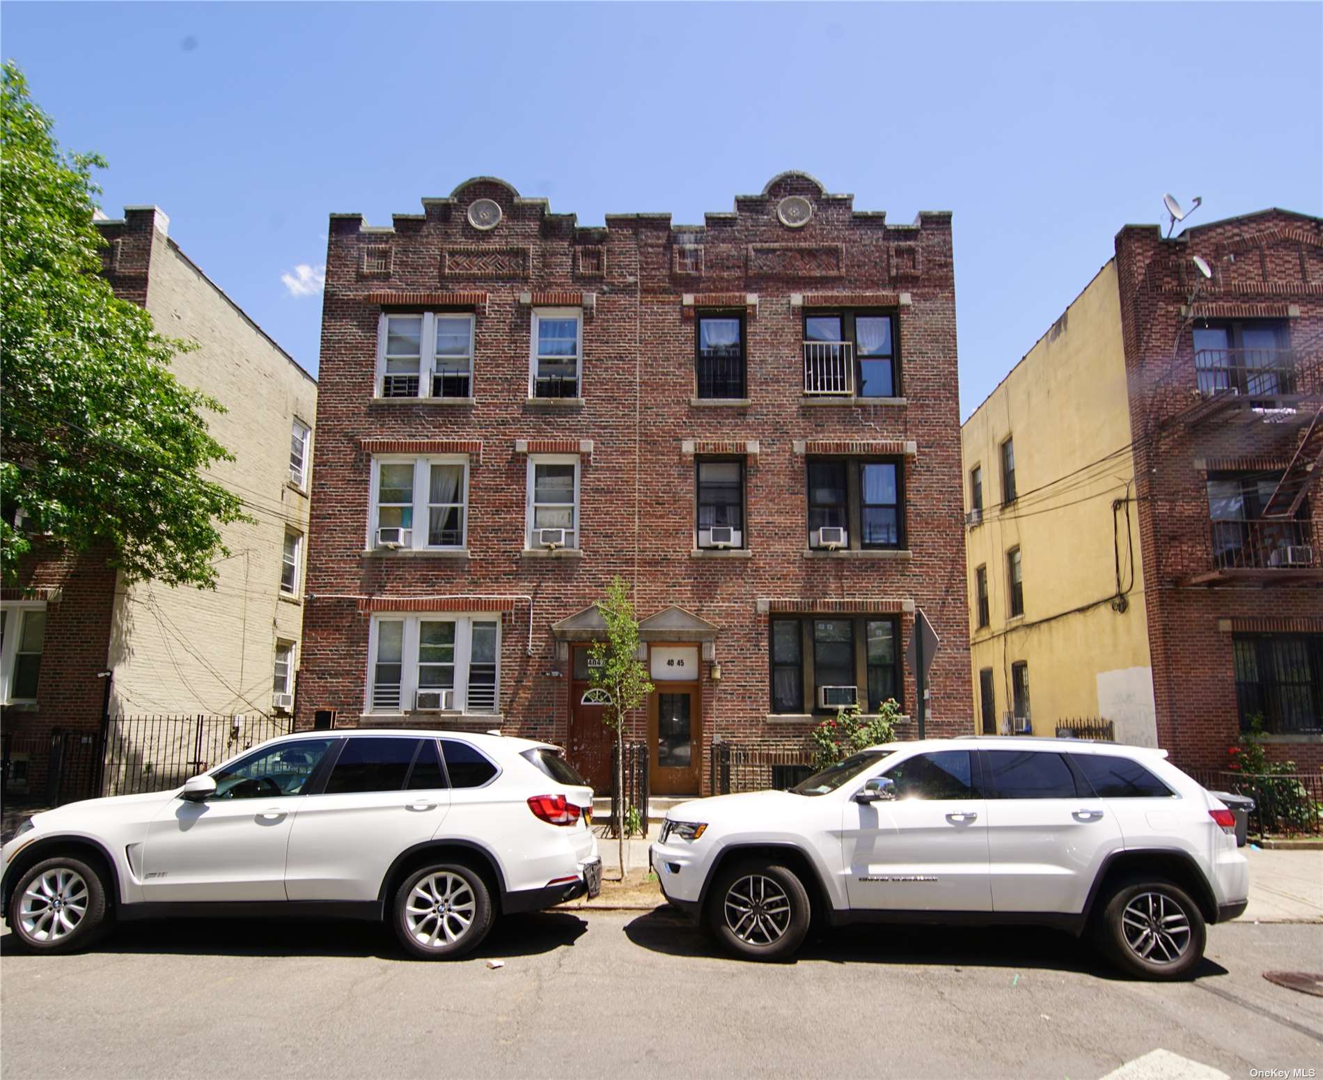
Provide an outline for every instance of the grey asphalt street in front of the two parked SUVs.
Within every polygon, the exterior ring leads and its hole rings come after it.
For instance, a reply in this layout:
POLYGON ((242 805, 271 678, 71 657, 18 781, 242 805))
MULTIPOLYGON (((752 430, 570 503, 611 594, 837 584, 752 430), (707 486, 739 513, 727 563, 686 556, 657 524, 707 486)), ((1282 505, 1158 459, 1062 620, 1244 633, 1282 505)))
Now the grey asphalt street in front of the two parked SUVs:
POLYGON ((0 1076, 1091 1080, 1155 1050, 1323 1076, 1323 998, 1273 969, 1323 970, 1323 926, 1213 926, 1177 985, 1031 929, 828 930, 745 964, 664 909, 520 916, 452 964, 356 922, 131 924, 70 957, 7 933, 0 1076))

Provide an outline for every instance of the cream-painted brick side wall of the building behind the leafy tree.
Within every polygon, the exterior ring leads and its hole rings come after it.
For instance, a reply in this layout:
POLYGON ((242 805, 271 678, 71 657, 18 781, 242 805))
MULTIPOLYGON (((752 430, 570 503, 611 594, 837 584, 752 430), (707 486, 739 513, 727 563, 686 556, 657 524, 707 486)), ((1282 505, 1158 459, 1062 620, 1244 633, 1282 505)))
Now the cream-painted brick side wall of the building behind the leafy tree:
POLYGON ((110 713, 292 713, 316 380, 189 261, 160 209, 98 226, 116 292, 146 300, 160 334, 197 343, 173 371, 225 406, 205 417, 234 461, 209 475, 254 519, 225 527, 214 590, 116 582, 110 713))

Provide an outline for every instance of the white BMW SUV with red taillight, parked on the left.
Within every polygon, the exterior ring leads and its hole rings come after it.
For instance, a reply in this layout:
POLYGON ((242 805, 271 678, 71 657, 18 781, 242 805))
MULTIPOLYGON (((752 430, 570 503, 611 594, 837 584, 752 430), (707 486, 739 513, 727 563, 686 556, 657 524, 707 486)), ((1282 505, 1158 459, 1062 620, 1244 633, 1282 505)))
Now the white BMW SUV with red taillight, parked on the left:
POLYGON ((458 957, 497 913, 597 895, 591 807, 544 742, 304 732, 172 791, 37 814, 0 851, 3 911, 40 952, 112 917, 311 913, 389 920, 413 954, 458 957))

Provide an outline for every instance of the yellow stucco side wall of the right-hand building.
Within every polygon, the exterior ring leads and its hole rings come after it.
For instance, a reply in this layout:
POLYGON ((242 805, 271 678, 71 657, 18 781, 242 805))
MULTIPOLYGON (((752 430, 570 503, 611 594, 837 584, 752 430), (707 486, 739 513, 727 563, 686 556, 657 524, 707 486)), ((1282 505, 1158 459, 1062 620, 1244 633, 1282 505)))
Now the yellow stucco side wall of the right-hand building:
POLYGON ((1113 720, 1123 742, 1156 745, 1139 520, 1117 267, 1107 262, 964 422, 964 508, 983 467, 983 521, 966 528, 975 729, 979 672, 991 668, 999 731, 1012 711, 1011 666, 1028 663, 1035 735, 1058 719, 1113 720), (1017 499, 1004 500, 1000 447, 1013 438, 1017 499), (1115 512, 1113 503, 1130 502, 1115 512), (1130 533, 1127 539, 1127 516, 1130 533), (1019 547, 1024 614, 1008 619, 1007 552, 1019 547), (1127 610, 1117 593, 1121 553, 1127 610), (976 569, 987 568, 990 625, 978 627, 976 569))

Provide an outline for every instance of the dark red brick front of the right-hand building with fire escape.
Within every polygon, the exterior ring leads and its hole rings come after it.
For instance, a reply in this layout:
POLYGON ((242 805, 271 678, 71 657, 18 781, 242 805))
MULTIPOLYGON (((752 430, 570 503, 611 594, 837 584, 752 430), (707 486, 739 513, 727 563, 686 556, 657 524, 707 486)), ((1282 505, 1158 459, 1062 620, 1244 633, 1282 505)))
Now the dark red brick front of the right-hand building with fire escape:
MULTIPOLYGON (((1140 507, 1158 741, 1188 766, 1225 766, 1238 733, 1233 634, 1323 633, 1323 488, 1312 488, 1312 568, 1217 573, 1209 474, 1271 472, 1290 462, 1323 405, 1323 221, 1283 210, 1187 229, 1117 236, 1117 266, 1140 507), (1212 270, 1205 281, 1193 257, 1212 270), (1192 327, 1279 320, 1295 375, 1290 394, 1200 394, 1192 327), (1218 400, 1213 400, 1217 397, 1218 400)), ((1316 453, 1316 451, 1314 451, 1316 453)), ((1323 737, 1274 757, 1323 766, 1323 737)))

